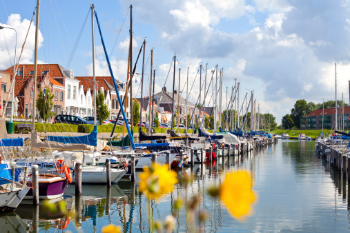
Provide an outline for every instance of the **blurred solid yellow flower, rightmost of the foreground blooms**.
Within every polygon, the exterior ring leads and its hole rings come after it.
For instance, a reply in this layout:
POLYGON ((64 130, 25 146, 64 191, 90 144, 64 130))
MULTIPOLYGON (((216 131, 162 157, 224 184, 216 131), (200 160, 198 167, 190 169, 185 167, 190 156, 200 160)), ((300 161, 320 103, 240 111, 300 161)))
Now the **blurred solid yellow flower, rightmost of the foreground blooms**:
POLYGON ((247 171, 236 171, 226 174, 220 186, 220 200, 226 205, 230 214, 239 221, 253 214, 251 205, 257 195, 252 190, 253 181, 247 171))

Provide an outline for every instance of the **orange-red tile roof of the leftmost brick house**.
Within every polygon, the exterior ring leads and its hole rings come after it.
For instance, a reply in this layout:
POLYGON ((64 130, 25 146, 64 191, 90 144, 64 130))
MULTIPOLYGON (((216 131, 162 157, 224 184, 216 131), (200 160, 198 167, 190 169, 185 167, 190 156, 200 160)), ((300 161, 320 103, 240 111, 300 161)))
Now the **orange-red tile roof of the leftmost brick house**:
MULTIPOLYGON (((19 64, 18 70, 17 72, 22 72, 23 70, 23 66, 24 66, 24 75, 28 75, 30 74, 30 72, 34 72, 34 64, 19 64)), ((41 74, 43 71, 48 70, 50 73, 50 77, 67 77, 66 74, 64 74, 63 70, 64 68, 59 65, 59 64, 38 64, 37 65, 37 74, 41 74)), ((13 65, 6 69, 5 72, 8 72, 11 74, 11 76, 13 75, 13 65)), ((32 74, 31 74, 32 75, 32 74)), ((21 75, 19 75, 21 76, 21 75)), ((19 77, 17 76, 17 77, 19 77)))

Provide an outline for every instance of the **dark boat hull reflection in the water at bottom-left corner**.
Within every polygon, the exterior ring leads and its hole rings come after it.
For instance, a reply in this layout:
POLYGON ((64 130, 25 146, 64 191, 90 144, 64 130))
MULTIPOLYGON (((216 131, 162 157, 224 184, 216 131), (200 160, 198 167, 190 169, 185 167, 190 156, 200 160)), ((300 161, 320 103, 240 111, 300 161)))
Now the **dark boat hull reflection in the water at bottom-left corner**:
POLYGON ((0 216, 1 232, 28 232, 29 226, 17 214, 0 216))

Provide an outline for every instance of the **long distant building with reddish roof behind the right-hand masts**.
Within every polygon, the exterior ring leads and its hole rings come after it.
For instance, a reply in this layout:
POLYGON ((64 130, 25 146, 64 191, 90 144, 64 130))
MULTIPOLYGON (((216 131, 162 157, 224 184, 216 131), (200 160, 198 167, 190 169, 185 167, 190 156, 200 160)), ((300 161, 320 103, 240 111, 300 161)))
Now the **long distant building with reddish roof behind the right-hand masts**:
MULTIPOLYGON (((350 128, 350 107, 344 107, 344 112, 342 108, 338 108, 338 129, 350 128), (344 118, 343 118, 344 115, 344 118)), ((336 108, 328 108, 325 110, 315 110, 307 114, 306 117, 300 119, 300 128, 310 129, 310 130, 322 130, 322 116, 323 119, 323 128, 332 129, 336 123, 336 108)))

